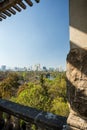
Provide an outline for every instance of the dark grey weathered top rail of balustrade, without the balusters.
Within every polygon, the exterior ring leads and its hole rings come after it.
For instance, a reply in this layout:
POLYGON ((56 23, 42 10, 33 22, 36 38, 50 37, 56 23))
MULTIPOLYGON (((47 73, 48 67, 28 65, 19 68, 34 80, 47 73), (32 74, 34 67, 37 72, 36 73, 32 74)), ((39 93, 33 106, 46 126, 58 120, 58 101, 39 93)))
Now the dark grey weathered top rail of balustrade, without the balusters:
POLYGON ((30 124, 36 124, 41 129, 62 130, 67 118, 52 113, 23 106, 11 101, 0 99, 0 111, 14 115, 30 124))

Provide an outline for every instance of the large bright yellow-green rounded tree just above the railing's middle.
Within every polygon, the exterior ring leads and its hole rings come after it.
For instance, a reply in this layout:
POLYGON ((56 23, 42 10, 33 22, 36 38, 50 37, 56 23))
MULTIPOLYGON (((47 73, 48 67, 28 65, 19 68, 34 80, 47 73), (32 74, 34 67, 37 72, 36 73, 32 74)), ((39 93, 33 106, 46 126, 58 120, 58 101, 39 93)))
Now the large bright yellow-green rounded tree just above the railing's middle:
POLYGON ((31 85, 31 83, 19 93, 16 102, 45 111, 49 109, 48 104, 50 103, 47 95, 44 95, 44 89, 40 85, 31 85))

